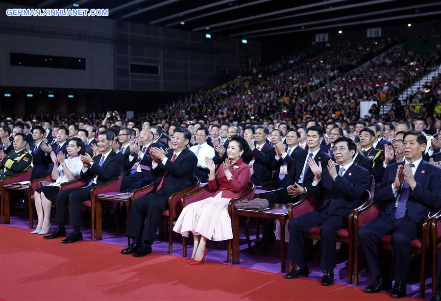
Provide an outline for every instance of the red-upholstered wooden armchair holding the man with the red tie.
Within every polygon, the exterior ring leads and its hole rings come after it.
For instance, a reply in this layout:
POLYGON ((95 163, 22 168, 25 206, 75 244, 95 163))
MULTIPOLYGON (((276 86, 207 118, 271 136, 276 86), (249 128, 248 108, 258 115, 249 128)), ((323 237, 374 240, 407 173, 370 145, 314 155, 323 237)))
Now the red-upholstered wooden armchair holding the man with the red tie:
POLYGON ((177 220, 179 217, 179 214, 182 211, 181 207, 181 199, 187 195, 193 193, 195 190, 199 188, 200 180, 196 176, 195 180, 193 181, 193 185, 189 188, 179 191, 176 193, 173 193, 169 200, 168 200, 168 207, 169 209, 164 210, 162 212, 161 221, 165 223, 166 233, 168 233, 168 239, 169 239, 169 254, 172 254, 173 252, 173 240, 172 240, 172 229, 173 229, 173 222, 177 220))

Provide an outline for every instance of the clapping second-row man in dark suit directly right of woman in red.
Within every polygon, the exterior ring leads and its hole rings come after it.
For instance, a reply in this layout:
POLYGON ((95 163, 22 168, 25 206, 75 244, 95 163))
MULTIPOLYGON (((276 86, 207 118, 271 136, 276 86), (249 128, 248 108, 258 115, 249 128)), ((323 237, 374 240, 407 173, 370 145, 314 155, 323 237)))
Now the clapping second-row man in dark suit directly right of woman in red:
POLYGON ((251 169, 251 181, 254 185, 261 185, 272 178, 271 161, 274 159, 276 152, 273 146, 266 143, 268 134, 267 127, 257 125, 254 132, 255 141, 253 142, 251 139, 245 138, 250 150, 248 155, 250 160, 249 166, 251 169))

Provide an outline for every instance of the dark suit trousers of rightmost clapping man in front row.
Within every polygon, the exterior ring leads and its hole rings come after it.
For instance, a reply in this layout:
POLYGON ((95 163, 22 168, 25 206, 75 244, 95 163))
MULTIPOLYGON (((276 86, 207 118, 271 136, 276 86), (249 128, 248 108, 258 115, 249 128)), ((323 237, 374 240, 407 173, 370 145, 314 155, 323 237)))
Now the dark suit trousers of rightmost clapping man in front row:
POLYGON ((395 210, 391 215, 382 215, 363 225, 358 229, 358 237, 363 250, 370 274, 373 277, 386 276, 382 271, 385 267, 380 265, 380 239, 392 233, 392 247, 395 255, 395 280, 406 281, 412 257, 411 242, 417 238, 421 225, 407 218, 395 219, 395 210))

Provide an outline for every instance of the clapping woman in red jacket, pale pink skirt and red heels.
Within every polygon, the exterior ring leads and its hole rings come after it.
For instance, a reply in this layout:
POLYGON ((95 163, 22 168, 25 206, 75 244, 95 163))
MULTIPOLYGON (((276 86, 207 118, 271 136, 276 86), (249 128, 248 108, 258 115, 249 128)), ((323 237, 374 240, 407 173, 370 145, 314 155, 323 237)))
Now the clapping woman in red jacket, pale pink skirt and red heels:
POLYGON ((251 179, 249 167, 241 158, 247 148, 243 137, 233 136, 228 144, 228 158, 216 173, 214 162, 205 158, 210 171, 208 186, 210 191, 215 193, 213 197, 186 206, 173 227, 173 231, 185 237, 188 237, 190 232, 193 233, 194 248, 192 259, 189 261, 192 265, 203 262, 207 253, 207 240, 221 241, 233 238, 228 203, 246 192, 251 179))

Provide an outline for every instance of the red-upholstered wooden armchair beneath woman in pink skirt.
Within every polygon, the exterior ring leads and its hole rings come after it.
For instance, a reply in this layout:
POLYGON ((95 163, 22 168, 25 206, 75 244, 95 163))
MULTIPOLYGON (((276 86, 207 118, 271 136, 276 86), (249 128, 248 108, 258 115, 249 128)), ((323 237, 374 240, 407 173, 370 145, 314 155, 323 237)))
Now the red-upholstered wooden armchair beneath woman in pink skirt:
MULTIPOLYGON (((197 190, 195 190, 193 193, 187 194, 186 196, 182 197, 181 199, 181 207, 182 209, 196 201, 201 201, 206 198, 212 197, 215 192, 210 191, 210 188, 208 185, 201 187, 197 190)), ((254 184, 250 181, 248 183, 248 188, 244 194, 241 196, 231 199, 228 203, 228 214, 231 218, 231 212, 233 210, 234 203, 237 201, 243 201, 243 200, 251 200, 254 198, 254 184)), ((231 239, 228 240, 228 249, 227 249, 227 263, 231 263, 231 239)), ((182 256, 187 256, 187 238, 185 236, 182 237, 182 244, 183 244, 183 253, 182 256)))

